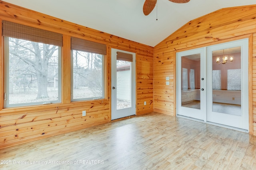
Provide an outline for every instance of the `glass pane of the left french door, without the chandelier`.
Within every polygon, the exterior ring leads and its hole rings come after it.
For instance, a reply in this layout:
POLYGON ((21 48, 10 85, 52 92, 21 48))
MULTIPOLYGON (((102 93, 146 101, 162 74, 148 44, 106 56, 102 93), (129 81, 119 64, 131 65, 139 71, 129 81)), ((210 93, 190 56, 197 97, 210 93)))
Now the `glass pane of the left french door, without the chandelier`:
POLYGON ((181 106, 200 109, 200 54, 181 57, 181 106))

